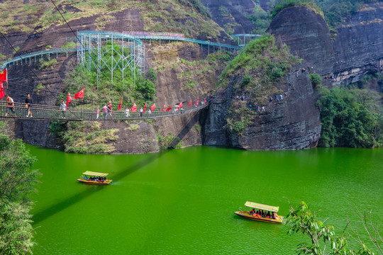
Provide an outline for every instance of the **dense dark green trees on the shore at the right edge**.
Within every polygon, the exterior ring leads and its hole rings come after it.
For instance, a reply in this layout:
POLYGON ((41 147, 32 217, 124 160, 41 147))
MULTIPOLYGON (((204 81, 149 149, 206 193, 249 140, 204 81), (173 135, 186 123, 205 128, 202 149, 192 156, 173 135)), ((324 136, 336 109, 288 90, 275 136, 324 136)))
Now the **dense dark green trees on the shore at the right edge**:
POLYGON ((383 115, 380 95, 369 89, 319 86, 323 147, 380 147, 383 115))

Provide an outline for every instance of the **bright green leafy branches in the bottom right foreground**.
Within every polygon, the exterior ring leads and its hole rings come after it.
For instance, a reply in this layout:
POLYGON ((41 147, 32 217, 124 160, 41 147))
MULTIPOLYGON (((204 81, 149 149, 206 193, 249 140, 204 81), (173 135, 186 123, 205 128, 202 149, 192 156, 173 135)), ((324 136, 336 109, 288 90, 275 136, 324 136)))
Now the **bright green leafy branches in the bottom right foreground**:
MULTIPOLYGON (((311 242, 301 242, 297 245, 297 254, 311 254, 311 255, 372 255, 374 252, 367 248, 365 242, 360 238, 359 234, 361 229, 352 229, 351 235, 346 231, 350 222, 343 229, 343 234, 338 236, 335 234, 335 229, 332 225, 324 225, 320 220, 316 220, 317 212, 311 212, 306 203, 301 202, 297 209, 292 208, 290 205, 289 214, 285 218, 286 224, 290 226, 288 234, 302 233, 311 242), (356 230, 356 232, 355 232, 356 230), (358 232, 359 231, 359 232, 358 232), (357 249, 352 249, 349 246, 348 240, 355 240, 357 249)), ((362 225, 365 227, 368 236, 372 243, 378 244, 379 247, 379 232, 374 231, 376 227, 372 225, 372 221, 368 222, 365 215, 364 220, 362 215, 358 215, 362 220, 362 225)), ((350 228, 350 227, 349 227, 350 228)), ((382 239, 380 239, 382 240, 382 239)), ((382 251, 382 250, 381 250, 382 251)))

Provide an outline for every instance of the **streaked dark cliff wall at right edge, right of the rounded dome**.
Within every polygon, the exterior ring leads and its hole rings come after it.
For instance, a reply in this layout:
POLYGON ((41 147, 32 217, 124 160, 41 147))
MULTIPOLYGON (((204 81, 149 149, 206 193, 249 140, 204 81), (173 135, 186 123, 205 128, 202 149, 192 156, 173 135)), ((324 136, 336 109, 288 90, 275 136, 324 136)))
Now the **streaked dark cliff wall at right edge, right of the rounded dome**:
POLYGON ((343 21, 333 42, 335 83, 383 71, 383 3, 364 6, 343 21))

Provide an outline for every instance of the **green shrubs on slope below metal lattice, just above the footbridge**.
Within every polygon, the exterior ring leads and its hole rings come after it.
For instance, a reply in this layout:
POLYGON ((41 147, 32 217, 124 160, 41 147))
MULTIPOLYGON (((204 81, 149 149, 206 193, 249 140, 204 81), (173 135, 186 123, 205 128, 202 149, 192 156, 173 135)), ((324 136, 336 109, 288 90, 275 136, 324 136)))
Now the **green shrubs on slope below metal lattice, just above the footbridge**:
MULTIPOLYGON (((103 51, 108 52, 103 55, 102 61, 109 66, 111 66, 111 47, 111 42, 103 46, 103 51)), ((130 55, 129 49, 125 48, 123 50, 119 45, 113 45, 113 50, 119 55, 130 55)), ((96 55, 91 55, 91 58, 94 59, 94 62, 97 61, 96 55)), ((118 65, 121 67, 122 62, 118 62, 118 65)), ((129 71, 123 74, 121 69, 116 67, 113 72, 113 81, 111 81, 111 71, 107 67, 104 67, 104 69, 101 69, 100 80, 97 83, 97 72, 94 67, 91 68, 90 72, 86 67, 77 67, 74 72, 65 77, 65 91, 69 91, 71 95, 74 95, 78 91, 85 89, 84 98, 92 98, 95 101, 105 101, 105 103, 111 99, 111 102, 114 104, 113 108, 118 106, 121 98, 123 98, 124 103, 136 103, 138 106, 143 106, 145 102, 148 102, 148 104, 152 103, 155 99, 155 84, 149 79, 139 79, 137 69, 133 72, 129 71)), ((154 77, 156 77, 153 71, 150 71, 148 75, 150 79, 153 80, 154 77)), ((62 101, 66 100, 66 98, 58 98, 58 100, 62 101)), ((98 106, 102 107, 101 105, 98 106)), ((97 106, 89 103, 87 106, 82 107, 95 108, 97 106)))

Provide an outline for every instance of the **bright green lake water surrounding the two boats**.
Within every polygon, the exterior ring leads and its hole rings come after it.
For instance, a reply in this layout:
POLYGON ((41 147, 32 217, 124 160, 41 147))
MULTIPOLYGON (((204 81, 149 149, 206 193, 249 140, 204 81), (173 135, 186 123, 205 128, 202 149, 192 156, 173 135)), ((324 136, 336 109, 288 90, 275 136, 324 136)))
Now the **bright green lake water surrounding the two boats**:
POLYGON ((383 149, 84 155, 28 148, 43 174, 31 212, 34 254, 295 254, 306 239, 287 235, 286 225, 234 215, 246 200, 279 206, 279 215, 287 215, 286 198, 294 206, 304 200, 338 234, 356 205, 372 209, 383 227, 383 149), (79 183, 84 171, 109 173, 113 183, 79 183))

